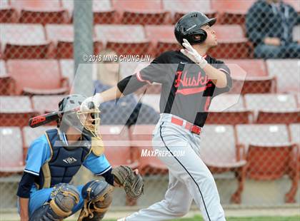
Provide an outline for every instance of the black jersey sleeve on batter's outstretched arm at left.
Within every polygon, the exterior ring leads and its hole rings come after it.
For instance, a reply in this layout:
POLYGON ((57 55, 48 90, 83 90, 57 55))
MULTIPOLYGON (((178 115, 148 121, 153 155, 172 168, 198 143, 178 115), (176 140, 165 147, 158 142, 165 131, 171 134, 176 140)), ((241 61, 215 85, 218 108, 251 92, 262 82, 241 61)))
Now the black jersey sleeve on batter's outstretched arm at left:
POLYGON ((166 66, 168 65, 168 53, 162 53, 160 56, 155 58, 149 66, 141 69, 132 76, 128 76, 123 80, 119 81, 118 88, 121 93, 127 95, 133 93, 137 89, 141 88, 146 84, 164 83, 166 81, 166 66))

